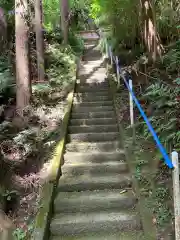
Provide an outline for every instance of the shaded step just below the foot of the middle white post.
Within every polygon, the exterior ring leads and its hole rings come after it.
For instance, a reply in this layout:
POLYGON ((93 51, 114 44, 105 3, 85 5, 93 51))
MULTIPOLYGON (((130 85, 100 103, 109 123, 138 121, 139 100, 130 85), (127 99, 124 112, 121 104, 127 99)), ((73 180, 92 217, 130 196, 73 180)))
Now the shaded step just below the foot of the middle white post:
POLYGON ((108 133, 118 132, 117 124, 114 125, 91 125, 91 126, 69 126, 69 133, 108 133))

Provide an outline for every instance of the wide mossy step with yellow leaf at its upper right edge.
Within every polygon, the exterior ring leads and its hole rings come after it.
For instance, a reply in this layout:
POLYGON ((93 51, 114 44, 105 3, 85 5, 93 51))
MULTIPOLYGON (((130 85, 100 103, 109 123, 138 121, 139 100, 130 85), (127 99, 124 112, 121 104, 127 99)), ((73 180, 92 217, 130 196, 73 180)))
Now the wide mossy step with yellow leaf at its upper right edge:
POLYGON ((54 201, 55 213, 97 212, 133 209, 136 197, 132 191, 121 193, 120 189, 61 192, 54 201))

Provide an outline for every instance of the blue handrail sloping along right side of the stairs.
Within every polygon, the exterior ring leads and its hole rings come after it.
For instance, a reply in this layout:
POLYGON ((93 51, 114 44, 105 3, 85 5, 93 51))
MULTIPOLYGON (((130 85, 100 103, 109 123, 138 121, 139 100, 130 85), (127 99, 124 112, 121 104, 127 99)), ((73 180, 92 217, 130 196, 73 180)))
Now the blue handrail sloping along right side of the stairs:
POLYGON ((139 109, 139 112, 140 112, 141 116, 143 117, 143 119, 144 119, 144 121, 145 121, 145 123, 146 123, 146 125, 147 125, 147 127, 148 127, 148 129, 149 129, 149 131, 151 132, 151 134, 152 134, 152 136, 153 136, 153 138, 154 138, 154 140, 155 140, 155 142, 156 142, 156 145, 157 145, 157 147, 159 148, 159 150, 160 150, 160 152, 161 152, 161 154, 162 154, 162 156, 163 156, 163 158, 164 158, 167 166, 168 166, 169 168, 174 168, 171 159, 169 158, 169 156, 168 156, 165 148, 164 148, 163 145, 161 144, 161 142, 160 142, 160 140, 159 140, 159 138, 158 138, 155 130, 153 129, 153 127, 152 127, 151 123, 149 122, 149 120, 148 120, 148 118, 147 118, 147 116, 146 116, 143 108, 141 107, 141 104, 139 103, 139 101, 138 101, 138 99, 136 98, 133 90, 130 88, 130 86, 129 86, 129 84, 128 84, 127 79, 128 79, 129 77, 123 75, 123 73, 122 73, 122 71, 121 71, 121 67, 120 67, 120 65, 119 65, 119 62, 117 62, 117 61, 116 61, 116 58, 113 56, 112 50, 111 50, 111 47, 110 47, 110 46, 108 46, 108 57, 112 57, 112 60, 113 60, 113 61, 115 62, 115 64, 116 64, 116 69, 119 71, 120 75, 123 76, 122 78, 123 78, 123 80, 124 80, 124 83, 125 83, 128 91, 130 92, 130 94, 131 94, 131 96, 132 96, 132 98, 133 98, 133 101, 135 102, 137 108, 139 109))

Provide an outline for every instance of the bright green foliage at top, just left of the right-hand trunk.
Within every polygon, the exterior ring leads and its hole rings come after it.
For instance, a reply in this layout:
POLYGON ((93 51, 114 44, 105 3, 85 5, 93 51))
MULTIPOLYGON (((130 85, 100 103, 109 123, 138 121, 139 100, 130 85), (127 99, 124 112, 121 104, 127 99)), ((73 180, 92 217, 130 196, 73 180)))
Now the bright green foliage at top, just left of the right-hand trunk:
POLYGON ((110 29, 116 47, 119 43, 131 46, 135 43, 138 24, 136 5, 136 1, 130 0, 92 1, 91 16, 98 25, 110 29))

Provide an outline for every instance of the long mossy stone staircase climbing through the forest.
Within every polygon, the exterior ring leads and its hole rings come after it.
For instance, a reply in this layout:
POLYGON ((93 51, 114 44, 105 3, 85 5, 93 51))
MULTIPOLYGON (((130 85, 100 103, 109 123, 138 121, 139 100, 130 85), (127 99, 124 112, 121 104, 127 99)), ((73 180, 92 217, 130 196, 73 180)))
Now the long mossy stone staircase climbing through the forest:
POLYGON ((143 239, 100 52, 88 45, 69 122, 51 240, 143 239))

